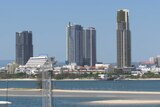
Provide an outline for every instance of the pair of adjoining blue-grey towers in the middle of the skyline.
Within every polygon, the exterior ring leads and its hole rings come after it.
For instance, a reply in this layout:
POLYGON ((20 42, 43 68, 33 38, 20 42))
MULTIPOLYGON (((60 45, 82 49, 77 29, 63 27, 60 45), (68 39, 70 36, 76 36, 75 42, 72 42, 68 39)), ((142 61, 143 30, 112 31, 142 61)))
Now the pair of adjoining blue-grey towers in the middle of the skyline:
POLYGON ((96 30, 93 27, 83 29, 81 25, 67 26, 66 59, 68 64, 95 66, 96 30))

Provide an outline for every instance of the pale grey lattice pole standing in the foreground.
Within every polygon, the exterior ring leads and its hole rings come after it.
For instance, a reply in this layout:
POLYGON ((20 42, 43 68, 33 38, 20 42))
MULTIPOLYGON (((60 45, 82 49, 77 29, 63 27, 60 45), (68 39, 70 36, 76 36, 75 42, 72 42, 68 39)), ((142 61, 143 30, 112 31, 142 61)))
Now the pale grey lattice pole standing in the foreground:
POLYGON ((49 58, 42 66, 42 107, 54 107, 52 97, 52 73, 54 65, 56 64, 55 58, 49 58))

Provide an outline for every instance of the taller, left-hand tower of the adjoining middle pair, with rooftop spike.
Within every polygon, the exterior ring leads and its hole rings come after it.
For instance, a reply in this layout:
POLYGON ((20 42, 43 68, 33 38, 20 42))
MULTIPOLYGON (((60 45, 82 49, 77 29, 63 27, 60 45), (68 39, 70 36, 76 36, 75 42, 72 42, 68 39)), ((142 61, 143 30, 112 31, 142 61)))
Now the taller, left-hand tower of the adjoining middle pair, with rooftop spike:
POLYGON ((67 62, 83 65, 83 27, 69 22, 67 26, 67 62))

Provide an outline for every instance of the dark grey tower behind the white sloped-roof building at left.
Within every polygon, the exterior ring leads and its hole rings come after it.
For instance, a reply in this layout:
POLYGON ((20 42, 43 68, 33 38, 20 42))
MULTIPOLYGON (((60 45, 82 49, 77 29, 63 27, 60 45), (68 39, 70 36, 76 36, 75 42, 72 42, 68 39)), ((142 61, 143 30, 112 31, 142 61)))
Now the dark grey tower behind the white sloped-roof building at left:
POLYGON ((32 32, 16 32, 16 63, 25 65, 33 57, 32 32))

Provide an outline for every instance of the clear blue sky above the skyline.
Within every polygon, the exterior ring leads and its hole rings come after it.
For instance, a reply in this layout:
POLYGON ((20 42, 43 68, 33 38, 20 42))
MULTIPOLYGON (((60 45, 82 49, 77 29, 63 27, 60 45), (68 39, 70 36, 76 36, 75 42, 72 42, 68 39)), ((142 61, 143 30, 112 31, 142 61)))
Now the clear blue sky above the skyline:
POLYGON ((97 60, 116 62, 116 12, 129 10, 132 61, 160 55, 160 0, 0 0, 0 60, 15 60, 15 32, 33 32, 34 56, 66 59, 69 21, 97 30, 97 60))

